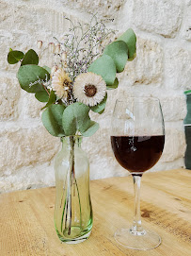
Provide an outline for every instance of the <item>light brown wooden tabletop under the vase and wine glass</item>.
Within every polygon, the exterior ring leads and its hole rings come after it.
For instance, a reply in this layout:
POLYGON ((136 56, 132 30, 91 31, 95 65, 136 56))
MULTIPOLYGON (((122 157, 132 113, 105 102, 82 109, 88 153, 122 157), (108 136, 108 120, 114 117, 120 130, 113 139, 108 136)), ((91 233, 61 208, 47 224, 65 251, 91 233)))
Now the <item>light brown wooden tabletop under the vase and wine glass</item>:
POLYGON ((90 183, 94 225, 89 239, 78 245, 61 244, 54 227, 55 188, 0 195, 0 255, 122 256, 191 255, 191 171, 146 173, 142 179, 143 225, 157 231, 162 245, 148 251, 131 250, 114 240, 114 232, 133 218, 132 178, 90 183))

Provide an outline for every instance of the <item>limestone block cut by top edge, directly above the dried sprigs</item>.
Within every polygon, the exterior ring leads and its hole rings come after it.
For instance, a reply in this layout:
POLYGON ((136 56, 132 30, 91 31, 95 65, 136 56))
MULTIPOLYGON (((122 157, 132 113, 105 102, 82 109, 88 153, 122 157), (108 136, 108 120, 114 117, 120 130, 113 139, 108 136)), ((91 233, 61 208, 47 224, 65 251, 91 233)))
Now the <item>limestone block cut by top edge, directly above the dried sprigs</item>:
POLYGON ((61 2, 72 9, 85 10, 88 13, 96 12, 97 16, 109 18, 114 18, 125 3, 124 0, 61 0, 61 2))

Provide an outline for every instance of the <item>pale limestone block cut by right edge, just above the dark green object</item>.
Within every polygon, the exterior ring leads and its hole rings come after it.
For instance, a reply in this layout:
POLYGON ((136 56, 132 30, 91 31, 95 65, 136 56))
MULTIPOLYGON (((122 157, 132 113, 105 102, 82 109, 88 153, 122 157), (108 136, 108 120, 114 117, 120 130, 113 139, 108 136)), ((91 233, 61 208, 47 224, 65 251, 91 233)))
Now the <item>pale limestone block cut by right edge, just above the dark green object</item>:
POLYGON ((165 56, 166 87, 189 90, 191 52, 178 47, 167 48, 165 56))

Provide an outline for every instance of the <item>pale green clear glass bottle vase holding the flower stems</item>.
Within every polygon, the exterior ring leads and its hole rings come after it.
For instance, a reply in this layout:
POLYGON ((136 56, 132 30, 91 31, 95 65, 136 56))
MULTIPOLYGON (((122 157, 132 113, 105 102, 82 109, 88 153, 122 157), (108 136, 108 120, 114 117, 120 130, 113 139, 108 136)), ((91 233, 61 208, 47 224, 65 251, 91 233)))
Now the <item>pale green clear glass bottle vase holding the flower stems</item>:
POLYGON ((88 239, 92 228, 89 163, 81 148, 82 137, 63 137, 61 141, 55 162, 55 227, 62 242, 77 244, 88 239))

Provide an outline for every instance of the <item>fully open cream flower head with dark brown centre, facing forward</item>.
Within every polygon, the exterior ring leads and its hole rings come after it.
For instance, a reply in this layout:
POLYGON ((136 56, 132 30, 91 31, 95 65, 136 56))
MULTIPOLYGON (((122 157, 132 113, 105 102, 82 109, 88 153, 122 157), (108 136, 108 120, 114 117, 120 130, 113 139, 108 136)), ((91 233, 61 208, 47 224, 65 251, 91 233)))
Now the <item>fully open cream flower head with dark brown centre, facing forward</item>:
POLYGON ((106 83, 103 77, 92 72, 84 73, 75 78, 73 95, 79 101, 90 107, 96 106, 106 94, 106 83))

